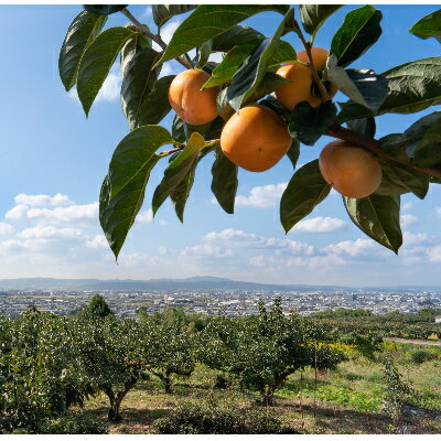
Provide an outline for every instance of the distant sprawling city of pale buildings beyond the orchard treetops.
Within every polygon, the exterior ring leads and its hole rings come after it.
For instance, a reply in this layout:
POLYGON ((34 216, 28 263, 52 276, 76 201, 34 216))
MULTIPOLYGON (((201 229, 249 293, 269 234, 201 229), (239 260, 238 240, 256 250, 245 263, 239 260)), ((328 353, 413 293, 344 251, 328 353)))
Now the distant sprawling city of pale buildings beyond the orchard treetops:
MULTIPOLYGON (((198 288, 189 289, 185 283, 157 283, 155 289, 3 289, 0 291, 0 313, 17 318, 30 306, 56 314, 74 315, 85 306, 95 294, 105 298, 109 306, 120 318, 135 318, 139 309, 147 313, 160 312, 165 308, 182 308, 189 313, 218 314, 230 316, 254 314, 261 300, 270 305, 275 297, 282 299, 286 313, 294 310, 301 315, 335 309, 370 310, 375 314, 391 311, 417 312, 422 308, 441 306, 441 289, 418 288, 330 288, 291 287, 265 289, 265 284, 250 289, 213 288, 213 279, 205 283, 198 280, 198 288), (161 288, 165 287, 165 288, 161 288)), ((186 279, 190 280, 190 279, 186 279)), ((227 280, 227 279, 219 279, 227 280)), ((248 284, 236 282, 238 286, 248 284)), ((133 283, 132 283, 133 286, 133 283)), ((135 284, 136 286, 136 284, 135 284)), ((234 287, 229 281, 226 287, 234 287)))

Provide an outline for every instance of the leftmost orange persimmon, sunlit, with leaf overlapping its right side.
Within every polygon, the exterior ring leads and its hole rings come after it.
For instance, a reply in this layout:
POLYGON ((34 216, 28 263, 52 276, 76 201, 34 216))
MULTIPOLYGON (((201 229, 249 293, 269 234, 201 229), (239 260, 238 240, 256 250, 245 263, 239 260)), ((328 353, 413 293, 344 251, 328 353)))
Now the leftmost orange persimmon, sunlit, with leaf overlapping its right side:
POLYGON ((201 69, 178 74, 169 88, 169 103, 178 116, 193 126, 213 121, 217 117, 218 87, 202 89, 209 75, 201 69))

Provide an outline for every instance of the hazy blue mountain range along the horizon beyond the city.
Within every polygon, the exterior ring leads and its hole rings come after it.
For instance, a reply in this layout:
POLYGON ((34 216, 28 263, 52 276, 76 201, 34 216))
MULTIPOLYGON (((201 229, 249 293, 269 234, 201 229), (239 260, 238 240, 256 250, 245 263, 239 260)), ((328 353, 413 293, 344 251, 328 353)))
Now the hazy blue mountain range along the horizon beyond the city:
POLYGON ((200 276, 187 279, 150 279, 150 280, 100 280, 100 279, 3 279, 0 290, 90 290, 90 291, 311 291, 311 290, 421 290, 440 289, 439 287, 384 287, 384 288, 351 288, 342 286, 312 284, 272 284, 236 281, 226 278, 200 276))

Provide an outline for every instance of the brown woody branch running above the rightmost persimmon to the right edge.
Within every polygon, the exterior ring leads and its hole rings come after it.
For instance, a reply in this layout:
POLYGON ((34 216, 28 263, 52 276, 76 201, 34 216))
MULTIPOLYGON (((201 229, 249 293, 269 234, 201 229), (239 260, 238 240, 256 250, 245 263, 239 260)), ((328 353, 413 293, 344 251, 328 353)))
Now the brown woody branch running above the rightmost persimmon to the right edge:
POLYGON ((329 137, 343 139, 344 141, 363 147, 365 150, 370 151, 372 153, 376 154, 379 158, 388 159, 389 161, 411 166, 412 169, 420 170, 421 172, 441 179, 441 169, 438 168, 427 169, 423 166, 412 164, 411 162, 408 162, 406 160, 392 157, 391 154, 388 154, 383 150, 381 142, 377 141, 376 139, 370 139, 368 137, 365 137, 353 130, 345 129, 340 125, 331 125, 326 130, 325 135, 327 135, 329 137))

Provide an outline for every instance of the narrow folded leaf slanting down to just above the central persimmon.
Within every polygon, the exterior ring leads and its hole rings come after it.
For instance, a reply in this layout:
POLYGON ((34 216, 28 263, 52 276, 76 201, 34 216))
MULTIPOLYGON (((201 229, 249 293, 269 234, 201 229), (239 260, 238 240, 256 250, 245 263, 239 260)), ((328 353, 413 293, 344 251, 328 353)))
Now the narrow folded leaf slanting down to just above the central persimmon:
POLYGON ((259 87, 284 25, 293 20, 293 9, 287 12, 272 37, 263 40, 233 76, 227 88, 227 99, 235 110, 239 110, 241 104, 259 87))

